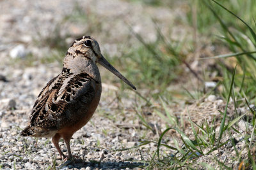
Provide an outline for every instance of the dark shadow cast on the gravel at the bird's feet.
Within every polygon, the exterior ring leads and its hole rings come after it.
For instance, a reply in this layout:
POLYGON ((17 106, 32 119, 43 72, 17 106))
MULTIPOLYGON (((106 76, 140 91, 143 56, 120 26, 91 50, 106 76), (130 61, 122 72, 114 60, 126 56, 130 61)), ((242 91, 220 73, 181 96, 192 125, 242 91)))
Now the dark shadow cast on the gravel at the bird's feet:
POLYGON ((90 167, 91 169, 96 168, 104 168, 104 169, 126 169, 129 167, 130 169, 133 169, 135 167, 145 167, 148 164, 146 162, 132 162, 132 160, 127 161, 116 161, 116 160, 107 160, 107 161, 97 161, 97 160, 82 160, 82 159, 76 159, 74 161, 67 160, 63 162, 60 166, 58 166, 56 169, 66 169, 67 167, 70 169, 77 168, 81 169, 83 167, 90 167))

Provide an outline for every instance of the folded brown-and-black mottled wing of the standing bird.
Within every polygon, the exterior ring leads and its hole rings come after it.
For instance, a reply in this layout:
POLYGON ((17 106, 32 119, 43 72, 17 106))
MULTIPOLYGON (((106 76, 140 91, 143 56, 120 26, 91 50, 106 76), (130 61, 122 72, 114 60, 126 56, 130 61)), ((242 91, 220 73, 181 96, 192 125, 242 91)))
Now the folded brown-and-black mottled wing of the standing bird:
POLYGON ((53 78, 40 92, 31 112, 31 125, 51 130, 79 120, 95 96, 95 81, 86 73, 53 78))

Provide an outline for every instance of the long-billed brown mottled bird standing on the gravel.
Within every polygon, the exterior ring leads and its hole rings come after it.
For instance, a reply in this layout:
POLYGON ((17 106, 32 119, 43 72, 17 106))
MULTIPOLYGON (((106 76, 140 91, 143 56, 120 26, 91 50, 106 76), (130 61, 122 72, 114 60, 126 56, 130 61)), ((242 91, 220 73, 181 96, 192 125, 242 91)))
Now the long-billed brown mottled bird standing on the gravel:
POLYGON ((101 80, 96 63, 136 90, 103 57, 98 42, 91 36, 83 36, 68 48, 61 73, 49 81, 38 95, 29 116, 29 125, 21 135, 52 138, 61 158, 72 159, 70 139, 92 118, 100 101, 101 80), (67 145, 68 156, 61 152, 60 138, 67 145))

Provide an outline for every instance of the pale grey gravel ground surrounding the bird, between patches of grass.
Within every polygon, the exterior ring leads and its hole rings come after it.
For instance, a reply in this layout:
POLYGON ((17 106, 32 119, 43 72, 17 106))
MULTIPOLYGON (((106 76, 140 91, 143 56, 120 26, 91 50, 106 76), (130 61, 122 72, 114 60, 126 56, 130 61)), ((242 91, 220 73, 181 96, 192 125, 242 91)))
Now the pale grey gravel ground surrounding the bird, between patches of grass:
MULTIPOLYGON (((144 111, 150 125, 156 128, 154 133, 147 131, 134 111, 134 103, 138 102, 136 95, 131 90, 120 92, 119 87, 104 83, 104 80, 102 80, 102 98, 95 115, 71 139, 72 153, 79 157, 76 162, 60 160, 51 139, 19 136, 22 128, 26 127, 36 96, 44 85, 61 71, 60 64, 57 62, 40 64, 40 59, 47 53, 51 53, 51 48, 35 42, 54 36, 56 25, 61 23, 63 25, 61 25, 60 36, 65 37, 70 34, 71 36, 64 38, 64 41, 71 43, 73 37, 83 35, 84 32, 93 32, 90 31, 95 29, 90 25, 92 24, 90 20, 93 19, 100 23, 100 29, 94 31, 92 36, 100 42, 102 51, 107 51, 110 56, 118 56, 124 46, 138 43, 136 38, 131 36, 129 29, 124 27, 125 23, 131 25, 134 31, 150 41, 156 39, 156 31, 151 18, 156 18, 161 28, 165 28, 172 25, 175 18, 182 18, 184 15, 182 11, 179 9, 171 11, 170 8, 150 8, 139 3, 131 4, 117 0, 111 0, 108 3, 93 0, 3 0, 0 1, 0 6, 1 167, 3 169, 54 169, 54 167, 57 169, 142 169, 145 160, 150 160, 150 155, 156 150, 156 144, 150 143, 131 150, 122 149, 140 145, 141 140, 156 141, 166 126, 157 115, 144 111), (63 23, 63 18, 70 15, 76 16, 77 6, 88 13, 88 24, 74 24, 72 20, 63 23), (29 60, 29 55, 36 56, 32 66, 22 65, 24 63, 22 61, 29 60), (17 60, 19 62, 16 62, 17 60), (120 99, 117 96, 125 97, 120 99)), ((162 31, 164 34, 170 34, 168 29, 162 31)), ((172 29, 173 38, 175 35, 188 37, 186 32, 190 32, 189 28, 180 29, 179 25, 175 25, 172 29)), ((103 69, 101 71, 108 74, 103 69)), ((205 115, 209 122, 216 115, 217 118, 220 117, 218 110, 223 110, 225 106, 225 103, 216 96, 209 96, 201 102, 189 106, 190 117, 195 122, 202 121, 205 115)), ((188 120, 187 108, 182 111, 178 106, 173 106, 170 110, 177 117, 184 117, 184 120, 188 120)), ((246 108, 241 108, 239 114, 246 111, 246 108)), ((230 116, 234 114, 232 106, 229 107, 228 114, 230 116)), ((248 130, 245 127, 251 127, 251 125, 246 125, 246 122, 239 122, 239 124, 244 134, 248 130)), ((184 122, 184 129, 188 134, 191 132, 189 122, 184 122)), ((175 132, 171 133, 172 136, 179 136, 175 132)), ((244 154, 243 157, 246 158, 245 146, 241 140, 243 136, 236 136, 235 133, 232 135, 237 140, 238 152, 244 154)), ((230 139, 230 136, 226 136, 225 139, 230 139)), ((163 142, 174 145, 170 139, 164 139, 163 142)), ((63 141, 60 141, 60 146, 67 153, 63 141)), ((200 157, 196 161, 207 162, 216 167, 213 158, 222 157, 223 160, 230 162, 232 167, 237 167, 239 162, 228 157, 228 155, 236 154, 234 148, 228 144, 221 150, 221 152, 212 152, 200 157)), ((164 155, 173 154, 164 148, 161 148, 161 152, 164 152, 164 155)), ((202 167, 198 164, 198 168, 202 167)))

